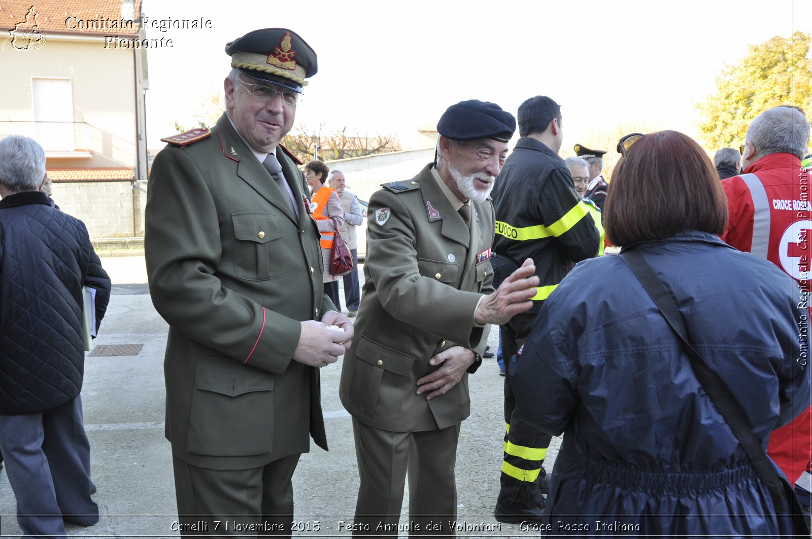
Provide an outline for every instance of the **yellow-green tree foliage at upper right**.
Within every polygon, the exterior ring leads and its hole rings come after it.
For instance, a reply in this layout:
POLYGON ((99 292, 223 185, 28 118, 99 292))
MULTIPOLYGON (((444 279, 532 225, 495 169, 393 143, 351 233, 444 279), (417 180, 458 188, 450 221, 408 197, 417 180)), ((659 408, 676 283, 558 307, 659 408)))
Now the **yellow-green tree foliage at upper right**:
POLYGON ((749 45, 745 58, 716 77, 716 93, 698 105, 706 148, 738 147, 749 123, 774 106, 799 106, 812 113, 810 69, 810 34, 795 32, 749 45))

